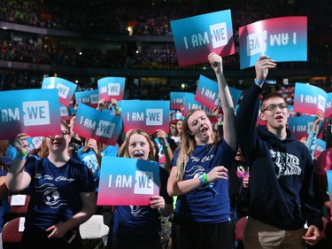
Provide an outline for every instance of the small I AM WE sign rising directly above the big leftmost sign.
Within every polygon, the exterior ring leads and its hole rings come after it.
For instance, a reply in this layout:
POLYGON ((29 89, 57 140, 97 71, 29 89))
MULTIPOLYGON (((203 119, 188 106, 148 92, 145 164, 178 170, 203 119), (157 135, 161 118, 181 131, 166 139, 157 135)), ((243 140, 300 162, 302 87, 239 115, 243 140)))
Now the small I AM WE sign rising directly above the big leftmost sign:
POLYGON ((58 97, 62 105, 71 104, 77 85, 59 77, 47 77, 42 80, 42 89, 58 89, 58 97))

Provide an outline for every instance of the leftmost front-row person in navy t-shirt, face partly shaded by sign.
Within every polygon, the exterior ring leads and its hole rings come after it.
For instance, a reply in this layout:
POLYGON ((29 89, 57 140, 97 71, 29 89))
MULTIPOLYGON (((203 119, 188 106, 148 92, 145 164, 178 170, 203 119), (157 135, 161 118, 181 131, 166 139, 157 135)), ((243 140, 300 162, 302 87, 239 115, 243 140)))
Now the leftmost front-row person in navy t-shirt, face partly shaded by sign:
POLYGON ((26 163, 27 137, 15 137, 18 153, 6 179, 10 191, 31 190, 20 248, 83 248, 79 226, 95 214, 97 198, 89 168, 68 155, 70 128, 61 122, 59 135, 43 138, 48 156, 26 163))

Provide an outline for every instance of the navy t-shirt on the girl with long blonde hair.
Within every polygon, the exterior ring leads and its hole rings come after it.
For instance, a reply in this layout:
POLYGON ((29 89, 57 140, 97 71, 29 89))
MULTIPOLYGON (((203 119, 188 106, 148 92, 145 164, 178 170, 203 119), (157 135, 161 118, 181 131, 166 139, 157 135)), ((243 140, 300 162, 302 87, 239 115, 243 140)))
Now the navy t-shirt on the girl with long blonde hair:
MULTIPOLYGON (((196 145, 189 155, 183 180, 197 178, 209 173, 213 167, 230 167, 235 157, 235 151, 221 139, 212 144, 196 145)), ((179 150, 174 152, 172 166, 175 167, 179 150)), ((217 180, 205 184, 185 195, 178 196, 174 215, 183 220, 205 223, 230 221, 230 203, 228 195, 228 180, 217 180)))

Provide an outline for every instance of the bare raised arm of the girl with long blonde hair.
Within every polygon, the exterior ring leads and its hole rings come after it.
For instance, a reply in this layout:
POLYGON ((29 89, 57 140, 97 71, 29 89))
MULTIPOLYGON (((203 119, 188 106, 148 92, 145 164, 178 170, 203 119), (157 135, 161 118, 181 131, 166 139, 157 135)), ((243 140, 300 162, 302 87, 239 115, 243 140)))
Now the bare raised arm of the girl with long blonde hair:
POLYGON ((237 142, 235 135, 234 104, 223 72, 222 58, 215 53, 211 53, 209 54, 209 62, 217 77, 221 108, 224 113, 223 137, 225 141, 229 144, 229 146, 231 146, 234 150, 236 150, 237 142))

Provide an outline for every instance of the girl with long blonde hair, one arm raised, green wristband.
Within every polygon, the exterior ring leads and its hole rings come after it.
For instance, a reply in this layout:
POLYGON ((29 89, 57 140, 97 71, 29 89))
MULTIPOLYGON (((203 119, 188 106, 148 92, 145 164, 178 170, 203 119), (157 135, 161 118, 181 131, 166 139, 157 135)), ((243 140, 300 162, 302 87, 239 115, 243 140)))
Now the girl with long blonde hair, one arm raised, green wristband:
POLYGON ((177 196, 172 224, 174 249, 232 248, 228 167, 237 149, 235 112, 222 58, 211 53, 208 59, 218 81, 224 136, 215 136, 204 110, 186 114, 167 183, 169 195, 177 196))

